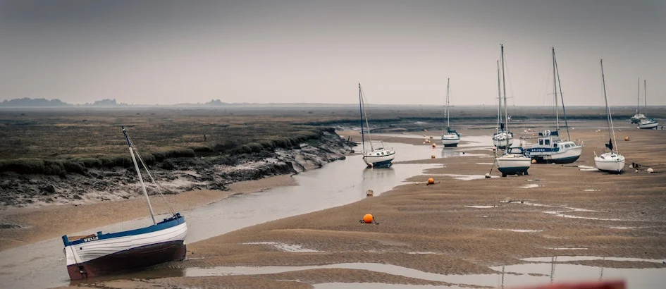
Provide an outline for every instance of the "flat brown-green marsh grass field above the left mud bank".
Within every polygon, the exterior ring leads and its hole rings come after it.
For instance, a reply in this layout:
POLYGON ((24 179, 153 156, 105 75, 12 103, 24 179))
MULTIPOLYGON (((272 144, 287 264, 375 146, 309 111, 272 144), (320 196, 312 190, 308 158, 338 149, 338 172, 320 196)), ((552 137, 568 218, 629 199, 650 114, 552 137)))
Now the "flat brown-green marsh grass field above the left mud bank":
MULTIPOLYGON (((229 116, 219 111, 0 111, 0 172, 64 176, 88 168, 130 167, 121 126, 147 164, 297 147, 323 130, 285 116, 229 116)), ((300 120, 302 121, 302 120, 300 120)), ((165 166, 168 167, 168 164, 165 166)))

